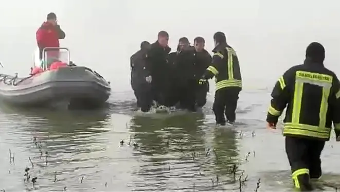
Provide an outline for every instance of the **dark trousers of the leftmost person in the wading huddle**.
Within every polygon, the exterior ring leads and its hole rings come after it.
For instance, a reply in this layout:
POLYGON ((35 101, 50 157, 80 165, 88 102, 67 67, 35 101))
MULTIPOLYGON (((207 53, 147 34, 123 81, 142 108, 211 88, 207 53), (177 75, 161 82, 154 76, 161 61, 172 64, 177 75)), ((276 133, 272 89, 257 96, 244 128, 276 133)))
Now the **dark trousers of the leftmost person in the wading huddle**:
POLYGON ((139 84, 138 86, 133 86, 133 91, 137 99, 137 107, 140 108, 142 112, 150 111, 152 106, 152 92, 150 84, 139 84))

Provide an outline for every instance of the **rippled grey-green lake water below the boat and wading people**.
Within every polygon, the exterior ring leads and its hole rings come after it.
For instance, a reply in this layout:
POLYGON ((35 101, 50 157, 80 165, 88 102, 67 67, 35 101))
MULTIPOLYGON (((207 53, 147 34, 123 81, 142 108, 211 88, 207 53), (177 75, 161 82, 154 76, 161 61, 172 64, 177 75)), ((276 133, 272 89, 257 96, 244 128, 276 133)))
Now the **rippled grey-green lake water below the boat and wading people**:
MULTIPOLYGON (((254 191, 259 178, 261 191, 291 190, 281 132, 263 129, 263 100, 240 102, 235 128, 214 126, 211 113, 131 117, 124 115, 128 107, 113 114, 114 105, 92 112, 4 109, 0 189, 33 189, 24 183, 30 157, 34 191, 239 191, 242 170, 243 179, 248 176, 243 191, 254 191)), ((326 191, 338 185, 337 148, 330 142, 323 153, 326 191)))

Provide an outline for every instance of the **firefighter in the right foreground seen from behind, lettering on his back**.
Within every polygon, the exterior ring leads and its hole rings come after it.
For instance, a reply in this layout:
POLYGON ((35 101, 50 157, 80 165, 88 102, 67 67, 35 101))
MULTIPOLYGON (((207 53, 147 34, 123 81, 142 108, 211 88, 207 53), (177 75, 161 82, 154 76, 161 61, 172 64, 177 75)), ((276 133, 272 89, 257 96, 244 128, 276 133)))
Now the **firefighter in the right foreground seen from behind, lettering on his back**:
POLYGON ((276 129, 288 105, 283 135, 295 188, 312 190, 310 179, 321 176, 320 154, 329 141, 332 123, 340 140, 340 82, 324 66, 325 49, 316 42, 306 49, 303 64, 288 69, 276 82, 267 127, 276 129))

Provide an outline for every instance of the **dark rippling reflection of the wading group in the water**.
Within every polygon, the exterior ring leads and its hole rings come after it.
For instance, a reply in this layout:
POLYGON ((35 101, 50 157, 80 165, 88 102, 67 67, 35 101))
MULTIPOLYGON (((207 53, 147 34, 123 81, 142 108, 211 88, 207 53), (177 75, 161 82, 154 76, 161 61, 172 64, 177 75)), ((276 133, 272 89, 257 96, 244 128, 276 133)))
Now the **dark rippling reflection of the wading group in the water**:
POLYGON ((235 131, 207 125, 202 114, 136 116, 131 121, 140 145, 134 154, 140 162, 135 191, 234 188, 225 185, 238 161, 235 131))

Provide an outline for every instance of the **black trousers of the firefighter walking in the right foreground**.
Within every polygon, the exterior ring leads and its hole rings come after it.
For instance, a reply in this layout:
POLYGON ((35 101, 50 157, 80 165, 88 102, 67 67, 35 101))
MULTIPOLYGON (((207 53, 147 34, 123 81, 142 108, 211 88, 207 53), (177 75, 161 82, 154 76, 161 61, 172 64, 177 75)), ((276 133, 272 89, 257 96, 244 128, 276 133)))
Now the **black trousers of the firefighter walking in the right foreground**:
POLYGON ((296 188, 312 190, 309 179, 317 179, 322 174, 320 155, 325 143, 310 138, 285 137, 285 151, 296 188))

